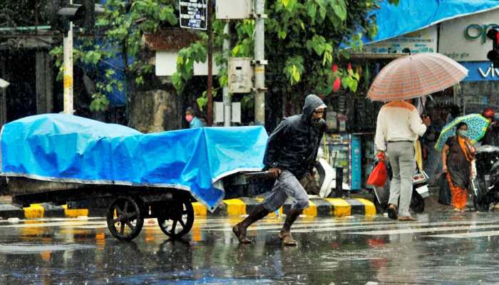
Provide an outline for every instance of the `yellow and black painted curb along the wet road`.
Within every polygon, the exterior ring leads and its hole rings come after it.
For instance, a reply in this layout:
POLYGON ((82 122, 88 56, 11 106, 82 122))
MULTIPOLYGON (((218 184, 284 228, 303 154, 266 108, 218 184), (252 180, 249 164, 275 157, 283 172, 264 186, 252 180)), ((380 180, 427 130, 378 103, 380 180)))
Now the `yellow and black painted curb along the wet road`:
MULTIPOLYGON (((220 203, 215 212, 209 212, 207 208, 199 202, 193 202, 194 214, 196 217, 241 217, 249 214, 262 203, 262 198, 241 197, 238 199, 226 199, 220 203)), ((292 207, 292 200, 287 199, 284 205, 276 214, 286 214, 292 207)), ((352 214, 375 215, 376 207, 373 202, 362 198, 319 198, 310 197, 309 207, 304 209, 303 215, 307 217, 346 217, 352 214)), ((106 217, 106 209, 71 209, 68 205, 57 206, 51 203, 31 204, 30 207, 15 207, 11 204, 0 204, 0 219, 39 219, 48 217, 106 217)))

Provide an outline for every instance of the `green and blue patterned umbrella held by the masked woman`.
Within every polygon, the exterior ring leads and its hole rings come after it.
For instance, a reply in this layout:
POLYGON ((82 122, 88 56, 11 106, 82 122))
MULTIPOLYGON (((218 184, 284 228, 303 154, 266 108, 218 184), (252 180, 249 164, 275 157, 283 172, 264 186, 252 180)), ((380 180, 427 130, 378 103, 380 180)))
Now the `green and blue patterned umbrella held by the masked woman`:
POLYGON ((458 117, 453 120, 451 123, 448 123, 445 127, 443 127, 440 136, 435 144, 435 148, 437 150, 443 150, 443 145, 446 144, 448 138, 451 138, 453 135, 456 135, 456 125, 458 123, 464 122, 468 125, 468 130, 466 131, 466 136, 470 138, 471 142, 475 143, 480 138, 483 138, 485 132, 488 127, 488 120, 480 114, 470 114, 465 115, 463 117, 458 117))

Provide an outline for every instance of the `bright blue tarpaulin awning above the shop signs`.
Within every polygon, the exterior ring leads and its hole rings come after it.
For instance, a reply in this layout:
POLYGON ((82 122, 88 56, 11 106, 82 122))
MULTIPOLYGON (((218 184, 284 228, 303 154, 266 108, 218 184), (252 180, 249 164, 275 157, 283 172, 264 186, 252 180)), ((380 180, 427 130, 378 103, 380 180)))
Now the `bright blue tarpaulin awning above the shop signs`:
MULTIPOLYGON (((398 5, 384 0, 376 15, 378 34, 374 41, 384 41, 418 31, 449 19, 499 8, 498 0, 401 0, 398 5)), ((369 43, 363 38, 364 43, 369 43)))

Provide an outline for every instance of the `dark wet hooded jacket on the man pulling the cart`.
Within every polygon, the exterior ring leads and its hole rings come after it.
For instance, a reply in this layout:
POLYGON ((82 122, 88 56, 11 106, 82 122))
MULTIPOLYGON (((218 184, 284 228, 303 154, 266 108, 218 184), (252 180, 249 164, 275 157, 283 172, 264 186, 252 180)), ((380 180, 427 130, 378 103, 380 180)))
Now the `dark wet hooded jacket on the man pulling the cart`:
POLYGON ((317 95, 310 94, 302 114, 282 120, 267 140, 263 160, 266 169, 289 170, 298 180, 312 169, 325 128, 324 120, 319 125, 312 123, 312 113, 323 104, 317 95))

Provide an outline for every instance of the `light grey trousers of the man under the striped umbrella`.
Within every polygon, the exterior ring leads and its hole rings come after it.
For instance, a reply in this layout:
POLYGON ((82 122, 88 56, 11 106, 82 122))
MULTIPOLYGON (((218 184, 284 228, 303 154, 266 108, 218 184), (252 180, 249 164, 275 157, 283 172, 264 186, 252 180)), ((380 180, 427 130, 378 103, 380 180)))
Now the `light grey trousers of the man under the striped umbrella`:
POLYGON ((412 198, 412 176, 416 169, 412 142, 389 142, 386 147, 393 177, 390 184, 389 204, 398 207, 398 215, 409 217, 412 198), (400 197, 400 204, 398 198, 400 197))

